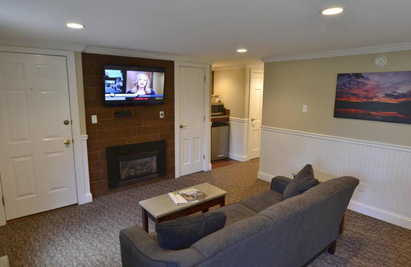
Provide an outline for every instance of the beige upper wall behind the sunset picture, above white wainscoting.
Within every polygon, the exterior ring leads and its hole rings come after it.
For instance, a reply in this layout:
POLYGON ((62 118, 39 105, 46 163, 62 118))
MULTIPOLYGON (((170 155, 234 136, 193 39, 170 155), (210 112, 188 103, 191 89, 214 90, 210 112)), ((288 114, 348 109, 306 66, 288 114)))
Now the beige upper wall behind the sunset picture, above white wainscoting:
POLYGON ((338 73, 411 70, 411 50, 265 64, 264 126, 411 146, 411 125, 333 118, 338 73), (382 68, 372 62, 385 55, 382 68), (308 112, 303 113, 303 105, 308 112))

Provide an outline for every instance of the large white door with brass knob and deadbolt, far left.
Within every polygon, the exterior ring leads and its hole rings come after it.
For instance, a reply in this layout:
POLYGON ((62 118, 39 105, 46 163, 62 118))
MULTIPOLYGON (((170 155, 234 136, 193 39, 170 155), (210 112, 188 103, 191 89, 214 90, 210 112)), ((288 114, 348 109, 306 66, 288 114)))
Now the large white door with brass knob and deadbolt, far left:
POLYGON ((77 203, 66 57, 0 52, 0 105, 6 219, 77 203))

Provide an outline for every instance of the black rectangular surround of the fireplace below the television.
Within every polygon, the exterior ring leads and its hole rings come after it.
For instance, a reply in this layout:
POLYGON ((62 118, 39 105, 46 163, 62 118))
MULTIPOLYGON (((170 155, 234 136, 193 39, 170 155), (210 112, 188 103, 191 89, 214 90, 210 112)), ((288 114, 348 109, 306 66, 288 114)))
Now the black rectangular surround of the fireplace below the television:
POLYGON ((107 178, 108 188, 116 188, 119 185, 144 181, 167 174, 166 164, 166 141, 158 140, 144 143, 127 144, 119 146, 106 147, 107 154, 107 178), (139 177, 131 180, 120 182, 118 157, 130 154, 139 154, 157 150, 157 173, 148 177, 139 177))

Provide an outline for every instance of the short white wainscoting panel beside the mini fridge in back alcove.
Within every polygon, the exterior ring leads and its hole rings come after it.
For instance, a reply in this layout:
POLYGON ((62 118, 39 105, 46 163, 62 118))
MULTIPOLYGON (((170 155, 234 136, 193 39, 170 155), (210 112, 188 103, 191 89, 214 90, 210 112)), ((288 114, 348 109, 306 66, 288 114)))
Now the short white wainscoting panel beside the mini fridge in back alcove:
POLYGON ((247 155, 248 119, 230 118, 228 157, 248 161, 247 155))

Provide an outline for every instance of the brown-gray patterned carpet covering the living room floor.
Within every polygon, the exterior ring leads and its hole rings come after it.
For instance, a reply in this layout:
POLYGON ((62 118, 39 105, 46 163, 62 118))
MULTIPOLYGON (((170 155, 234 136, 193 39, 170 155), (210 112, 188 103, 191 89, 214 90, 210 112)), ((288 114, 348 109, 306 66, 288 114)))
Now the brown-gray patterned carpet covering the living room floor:
MULTIPOLYGON (((209 182, 233 203, 269 188, 257 171, 258 159, 14 221, 0 226, 0 256, 8 255, 10 266, 121 266, 119 231, 141 225, 140 200, 209 182)), ((309 266, 411 266, 410 253, 410 230, 347 211, 335 255, 324 253, 309 266)))

